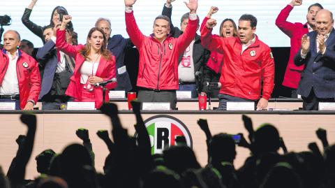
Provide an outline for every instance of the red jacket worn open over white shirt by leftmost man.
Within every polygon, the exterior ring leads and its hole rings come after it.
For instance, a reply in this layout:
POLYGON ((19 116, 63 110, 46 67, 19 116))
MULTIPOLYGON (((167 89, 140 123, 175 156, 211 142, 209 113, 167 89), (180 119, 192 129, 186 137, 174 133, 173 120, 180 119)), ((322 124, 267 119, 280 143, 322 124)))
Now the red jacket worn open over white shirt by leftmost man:
MULTIPOLYGON (((9 57, 6 55, 6 50, 2 50, 0 53, 1 85, 8 68, 9 57)), ((37 103, 38 95, 40 94, 40 70, 38 69, 38 63, 33 57, 19 50, 16 73, 19 82, 20 108, 23 109, 28 100, 37 103), (27 63, 27 67, 25 67, 26 65, 24 63, 27 63)))

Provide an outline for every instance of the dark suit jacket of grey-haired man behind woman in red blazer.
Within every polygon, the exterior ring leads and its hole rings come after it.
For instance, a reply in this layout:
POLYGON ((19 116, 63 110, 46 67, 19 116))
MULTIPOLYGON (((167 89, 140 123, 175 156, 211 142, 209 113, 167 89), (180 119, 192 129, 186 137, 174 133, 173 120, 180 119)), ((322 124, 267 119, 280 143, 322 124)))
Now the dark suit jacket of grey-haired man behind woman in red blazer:
MULTIPOLYGON (((118 68, 124 66, 124 54, 126 50, 133 48, 133 43, 131 43, 131 40, 129 38, 124 38, 121 35, 113 35, 108 40, 107 49, 112 52, 112 54, 115 56, 116 64, 118 68)), ((115 90, 125 90, 126 92, 129 92, 133 87, 131 86, 131 80, 129 78, 128 72, 124 72, 119 74, 117 71, 117 87, 115 87, 115 90)))

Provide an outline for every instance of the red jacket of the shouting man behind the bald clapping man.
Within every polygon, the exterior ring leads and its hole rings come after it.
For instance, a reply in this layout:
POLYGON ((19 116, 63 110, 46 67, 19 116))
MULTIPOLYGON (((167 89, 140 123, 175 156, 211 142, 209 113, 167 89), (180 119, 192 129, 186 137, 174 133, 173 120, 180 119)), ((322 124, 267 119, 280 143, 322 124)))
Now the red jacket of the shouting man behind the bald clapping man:
POLYGON ((288 66, 286 67, 283 85, 297 89, 301 71, 304 70, 304 66, 296 66, 294 58, 301 46, 301 37, 308 33, 308 27, 307 23, 301 24, 286 21, 292 9, 293 7, 288 5, 281 10, 281 13, 279 13, 276 19, 276 26, 290 37, 291 41, 290 59, 288 59, 288 66))

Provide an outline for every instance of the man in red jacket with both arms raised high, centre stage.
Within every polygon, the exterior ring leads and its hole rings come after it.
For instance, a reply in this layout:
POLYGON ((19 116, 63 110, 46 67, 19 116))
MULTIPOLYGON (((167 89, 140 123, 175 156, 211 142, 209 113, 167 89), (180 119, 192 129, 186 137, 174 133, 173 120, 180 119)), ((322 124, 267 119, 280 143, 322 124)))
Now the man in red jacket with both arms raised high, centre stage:
POLYGON ((190 9, 189 22, 181 36, 173 38, 170 33, 170 19, 159 15, 154 21, 153 34, 144 36, 138 29, 133 15, 136 0, 124 0, 126 6, 126 29, 131 41, 140 53, 137 99, 141 102, 170 102, 174 109, 179 88, 178 57, 195 38, 198 27, 196 11, 198 0, 186 3, 190 9))

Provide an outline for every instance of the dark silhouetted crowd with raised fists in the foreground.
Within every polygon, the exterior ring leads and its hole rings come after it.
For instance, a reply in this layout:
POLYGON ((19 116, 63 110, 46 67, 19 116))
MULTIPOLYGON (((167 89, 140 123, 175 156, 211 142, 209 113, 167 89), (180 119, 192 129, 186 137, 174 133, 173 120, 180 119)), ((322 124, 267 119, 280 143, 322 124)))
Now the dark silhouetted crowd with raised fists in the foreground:
MULTIPOLYGON (((242 115, 248 138, 239 133, 239 140, 228 133, 211 135, 207 120, 198 120, 206 135, 208 163, 201 166, 184 138, 177 145, 166 147, 163 154, 151 155, 149 134, 142 120, 140 103, 133 101, 137 137, 129 136, 119 120, 117 106, 105 104, 101 112, 110 117, 111 133, 101 130, 97 135, 107 146, 103 172, 94 167, 94 146, 87 129, 77 129, 81 144, 70 144, 57 154, 52 149, 36 156, 35 180, 25 180, 26 166, 31 158, 36 133, 36 116, 23 114, 20 119, 28 128, 27 135, 18 136, 18 150, 7 174, 0 168, 3 188, 107 188, 107 187, 181 187, 181 188, 276 188, 335 187, 335 145, 329 145, 327 131, 318 129, 323 152, 316 143, 309 150, 288 152, 274 125, 262 124, 253 129, 250 117, 242 115), (241 168, 234 168, 236 147, 250 150, 241 168), (283 152, 278 152, 278 150, 283 152), (281 154, 283 153, 283 154, 281 154)), ((223 130, 224 131, 224 130, 223 130)))

